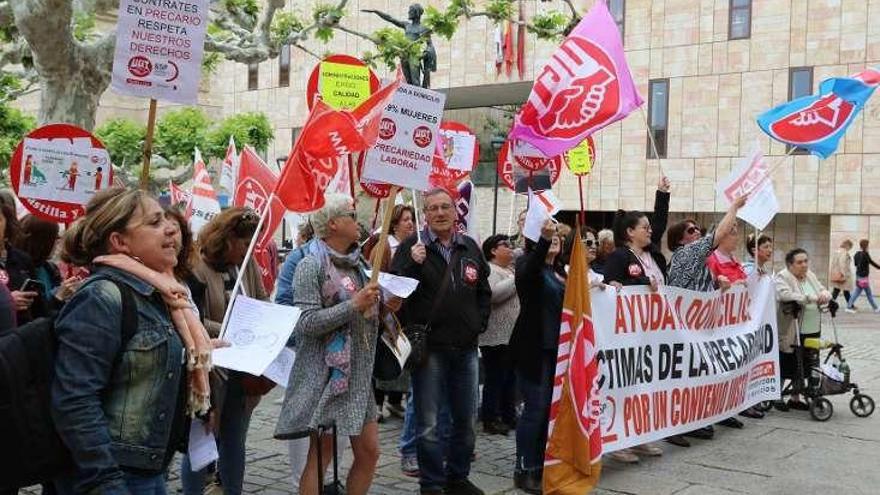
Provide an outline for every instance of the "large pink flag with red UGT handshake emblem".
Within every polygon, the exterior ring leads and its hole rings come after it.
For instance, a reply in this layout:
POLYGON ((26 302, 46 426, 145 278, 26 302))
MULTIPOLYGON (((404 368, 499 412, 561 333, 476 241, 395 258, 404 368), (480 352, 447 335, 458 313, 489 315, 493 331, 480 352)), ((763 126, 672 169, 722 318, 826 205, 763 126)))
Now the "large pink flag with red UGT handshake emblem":
POLYGON ((596 2, 535 78, 508 139, 554 157, 629 115, 642 104, 620 31, 605 2, 596 2))

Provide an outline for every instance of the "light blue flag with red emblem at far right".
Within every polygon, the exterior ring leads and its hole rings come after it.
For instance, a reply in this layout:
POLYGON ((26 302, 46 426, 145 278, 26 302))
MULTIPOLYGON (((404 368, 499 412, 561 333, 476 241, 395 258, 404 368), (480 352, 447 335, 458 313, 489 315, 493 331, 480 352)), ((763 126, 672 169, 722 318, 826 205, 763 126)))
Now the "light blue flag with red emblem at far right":
POLYGON ((802 96, 768 110, 758 126, 771 138, 821 158, 837 150, 840 138, 880 85, 880 70, 822 81, 818 95, 802 96))

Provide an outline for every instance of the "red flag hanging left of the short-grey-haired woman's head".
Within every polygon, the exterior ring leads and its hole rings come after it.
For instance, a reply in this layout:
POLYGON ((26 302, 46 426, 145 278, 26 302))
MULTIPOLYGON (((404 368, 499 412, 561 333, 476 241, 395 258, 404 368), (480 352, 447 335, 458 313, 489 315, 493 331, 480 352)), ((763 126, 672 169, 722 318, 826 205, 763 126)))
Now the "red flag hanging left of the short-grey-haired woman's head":
POLYGON ((269 203, 269 195, 275 189, 278 174, 269 168, 250 146, 246 146, 241 151, 238 167, 238 180, 232 204, 253 208, 260 214, 269 208, 263 221, 263 230, 254 246, 254 259, 260 266, 263 286, 271 292, 275 286, 277 273, 276 258, 272 255, 272 238, 284 218, 285 211, 284 205, 277 197, 272 198, 272 203, 269 203))

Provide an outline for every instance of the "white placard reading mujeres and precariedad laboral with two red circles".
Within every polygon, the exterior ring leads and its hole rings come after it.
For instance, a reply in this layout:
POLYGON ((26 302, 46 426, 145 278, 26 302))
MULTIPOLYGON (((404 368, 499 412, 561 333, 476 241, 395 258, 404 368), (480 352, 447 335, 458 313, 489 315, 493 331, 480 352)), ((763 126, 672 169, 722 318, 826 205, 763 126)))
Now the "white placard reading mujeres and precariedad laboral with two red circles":
POLYGON ((446 95, 401 84, 385 108, 379 140, 367 152, 363 178, 425 191, 446 95))

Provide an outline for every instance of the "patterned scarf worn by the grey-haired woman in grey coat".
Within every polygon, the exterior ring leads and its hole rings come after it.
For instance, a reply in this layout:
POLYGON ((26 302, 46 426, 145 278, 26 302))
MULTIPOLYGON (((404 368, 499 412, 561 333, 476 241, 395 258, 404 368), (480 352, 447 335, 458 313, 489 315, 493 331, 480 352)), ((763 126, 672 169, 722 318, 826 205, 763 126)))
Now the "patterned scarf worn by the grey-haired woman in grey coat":
MULTIPOLYGON (((321 284, 321 303, 325 308, 335 306, 351 299, 351 296, 364 285, 366 279, 361 262, 360 248, 351 253, 334 251, 323 240, 318 240, 312 253, 321 263, 324 280, 321 284), (342 275, 339 270, 355 271, 358 280, 342 275)), ((342 327, 333 332, 324 345, 324 363, 330 368, 330 393, 333 396, 348 391, 348 378, 351 375, 351 328, 342 327)))

